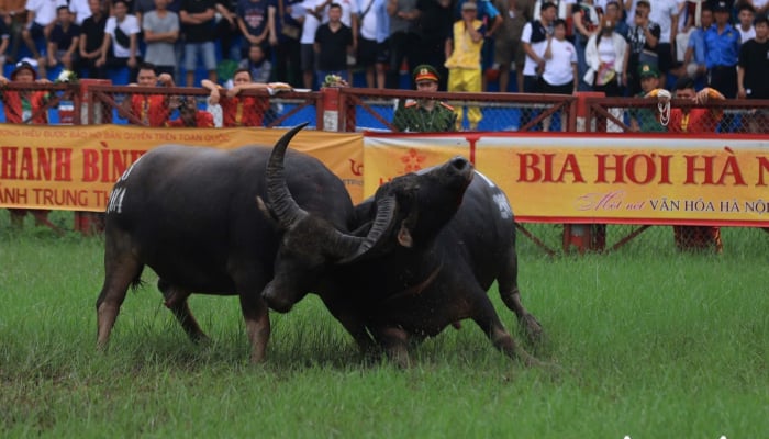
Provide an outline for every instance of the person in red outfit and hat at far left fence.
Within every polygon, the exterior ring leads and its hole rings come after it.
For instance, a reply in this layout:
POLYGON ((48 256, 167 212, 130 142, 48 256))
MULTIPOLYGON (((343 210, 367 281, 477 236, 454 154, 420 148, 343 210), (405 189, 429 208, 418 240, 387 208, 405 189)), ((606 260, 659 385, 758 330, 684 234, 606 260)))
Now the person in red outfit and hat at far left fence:
MULTIPOLYGON (((35 60, 24 58, 19 61, 13 71, 11 79, 0 75, 0 101, 3 104, 5 112, 5 122, 16 124, 47 124, 48 112, 45 111, 45 105, 49 99, 49 94, 44 90, 5 90, 9 82, 14 85, 31 85, 37 81, 37 70, 35 69, 35 60)), ((41 79, 40 82, 48 82, 47 79, 41 79)), ((31 213, 35 217, 35 223, 38 225, 47 225, 52 228, 57 228, 48 221, 48 210, 40 209, 9 209, 11 212, 11 225, 21 228, 24 223, 26 213, 31 213)))

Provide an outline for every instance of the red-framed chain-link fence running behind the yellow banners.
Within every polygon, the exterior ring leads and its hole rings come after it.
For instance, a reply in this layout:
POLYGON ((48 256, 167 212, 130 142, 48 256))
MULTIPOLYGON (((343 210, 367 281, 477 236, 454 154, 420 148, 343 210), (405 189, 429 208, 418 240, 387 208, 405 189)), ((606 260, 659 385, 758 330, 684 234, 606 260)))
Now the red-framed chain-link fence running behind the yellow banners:
MULTIPOLYGON (((83 81, 86 82, 86 81, 83 81)), ((142 126, 213 126, 225 124, 223 105, 212 105, 209 92, 200 88, 113 87, 81 85, 8 85, 2 90, 0 122, 9 120, 9 93, 47 93, 43 104, 22 123, 134 124, 142 126), (148 111, 149 103, 155 113, 148 111), (79 109, 79 111, 78 111, 79 109), (185 120, 183 112, 205 113, 185 120), (159 114, 159 115, 158 115, 159 114), (159 117, 153 120, 153 117, 159 117), (201 122, 202 121, 202 122, 201 122), (208 122, 207 122, 208 121, 208 122), (210 126, 210 125, 207 125, 210 126)), ((754 134, 769 132, 769 101, 711 100, 704 105, 673 99, 666 114, 655 99, 587 97, 583 108, 577 97, 517 93, 446 93, 412 90, 341 88, 320 92, 245 90, 238 94, 247 104, 239 108, 241 126, 293 126, 308 122, 311 128, 332 131, 397 131, 398 109, 420 100, 435 100, 450 106, 461 119, 459 131, 490 132, 601 132, 754 134), (471 119, 470 111, 477 111, 471 119), (689 113, 690 116, 686 117, 689 113), (691 125, 700 113, 699 125, 691 125), (477 119, 477 115, 480 119, 477 119), (667 117, 667 119, 666 119, 667 117), (582 123, 580 123, 582 119, 582 123), (588 121, 588 123, 584 123, 588 121), (687 125, 690 124, 690 125, 687 125), (696 128, 696 130, 695 130, 696 128)), ((515 200, 511 199, 513 207, 515 200)), ((602 224, 521 224, 520 241, 547 255, 568 252, 635 251, 729 251, 733 245, 765 246, 769 239, 760 228, 644 226, 602 224), (747 238, 745 238, 747 236, 747 238), (732 238, 734 237, 734 238, 732 238), (732 244, 734 241, 735 244, 732 244)))

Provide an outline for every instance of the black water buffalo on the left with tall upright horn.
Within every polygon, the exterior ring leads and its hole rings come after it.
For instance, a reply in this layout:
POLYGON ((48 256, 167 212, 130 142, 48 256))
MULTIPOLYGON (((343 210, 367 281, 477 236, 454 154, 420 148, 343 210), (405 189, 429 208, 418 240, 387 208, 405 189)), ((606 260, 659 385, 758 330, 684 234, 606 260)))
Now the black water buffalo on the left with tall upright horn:
MULTIPOLYGON (((276 147, 285 149, 303 126, 283 135, 276 147)), ((190 313, 188 296, 237 294, 250 360, 261 361, 270 325, 260 293, 274 270, 281 262, 290 266, 292 275, 302 280, 299 286, 312 289, 327 267, 326 258, 338 260, 337 254, 368 248, 376 227, 371 236, 346 235, 354 206, 344 184, 319 160, 300 153, 286 157, 286 184, 311 215, 294 218, 301 224, 286 233, 275 227, 256 203, 259 196, 279 205, 282 196, 265 185, 270 151, 264 146, 222 150, 168 145, 148 151, 123 173, 105 215, 104 284, 96 304, 99 347, 109 341, 127 288, 137 285, 149 266, 159 277, 166 306, 192 339, 205 335, 190 313), (316 234, 319 228, 338 230, 338 236, 316 234), (311 251, 283 248, 297 240, 311 251), (278 252, 281 262, 276 264, 278 252)))

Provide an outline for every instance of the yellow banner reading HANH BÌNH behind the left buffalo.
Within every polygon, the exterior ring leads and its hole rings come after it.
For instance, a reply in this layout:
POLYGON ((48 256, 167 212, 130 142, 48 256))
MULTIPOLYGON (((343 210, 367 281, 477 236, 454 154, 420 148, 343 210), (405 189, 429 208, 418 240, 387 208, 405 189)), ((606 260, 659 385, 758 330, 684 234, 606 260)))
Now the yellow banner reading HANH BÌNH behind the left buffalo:
MULTIPOLYGON (((272 146, 283 130, 29 126, 0 124, 0 206, 103 212, 112 184, 163 144, 235 148, 272 146)), ((323 161, 363 199, 360 134, 302 131, 291 148, 323 161)))

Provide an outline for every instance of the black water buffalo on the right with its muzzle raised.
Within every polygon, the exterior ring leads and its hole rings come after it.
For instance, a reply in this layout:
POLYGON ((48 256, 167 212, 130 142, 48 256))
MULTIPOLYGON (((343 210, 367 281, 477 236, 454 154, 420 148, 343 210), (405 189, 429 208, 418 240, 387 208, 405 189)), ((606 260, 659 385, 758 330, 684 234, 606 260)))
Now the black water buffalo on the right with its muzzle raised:
MULTIPOLYGON (((276 147, 274 155, 280 159, 283 148, 276 147)), ((272 167, 267 181, 279 188, 275 191, 280 205, 267 209, 281 227, 290 232, 301 225, 292 218, 308 213, 292 201, 281 169, 272 167)), ((498 349, 527 364, 538 363, 515 344, 487 295, 497 280, 504 304, 530 339, 539 338, 542 326, 522 305, 517 288, 513 212, 502 190, 469 161, 457 157, 393 179, 356 207, 356 233, 365 234, 374 225, 377 237, 369 239, 365 252, 356 249, 334 262, 319 294, 363 350, 382 348, 408 365, 410 342, 471 318, 498 349)), ((281 251, 302 247, 307 246, 286 243, 281 251)), ((302 297, 302 288, 294 283, 290 271, 276 271, 263 296, 270 307, 287 312, 302 297)))

